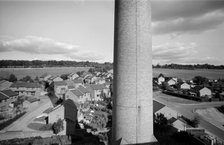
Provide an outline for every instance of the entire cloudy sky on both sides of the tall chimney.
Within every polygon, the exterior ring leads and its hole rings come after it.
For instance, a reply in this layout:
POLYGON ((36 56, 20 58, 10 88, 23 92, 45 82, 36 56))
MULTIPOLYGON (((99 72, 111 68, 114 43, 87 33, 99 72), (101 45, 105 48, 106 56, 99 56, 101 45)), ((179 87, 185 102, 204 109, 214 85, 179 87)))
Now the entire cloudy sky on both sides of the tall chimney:
MULTIPOLYGON (((224 1, 152 1, 153 63, 224 64, 224 1)), ((113 61, 114 0, 0 0, 0 59, 113 61)))

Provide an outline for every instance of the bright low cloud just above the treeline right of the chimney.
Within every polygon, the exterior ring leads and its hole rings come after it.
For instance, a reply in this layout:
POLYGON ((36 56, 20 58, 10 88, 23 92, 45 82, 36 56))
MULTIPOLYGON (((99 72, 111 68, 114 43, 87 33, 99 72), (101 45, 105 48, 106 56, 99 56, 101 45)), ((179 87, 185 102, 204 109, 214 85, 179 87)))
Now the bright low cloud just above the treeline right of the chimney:
POLYGON ((223 59, 205 56, 199 57, 196 51, 197 44, 192 42, 166 43, 153 46, 153 64, 222 64, 223 59))

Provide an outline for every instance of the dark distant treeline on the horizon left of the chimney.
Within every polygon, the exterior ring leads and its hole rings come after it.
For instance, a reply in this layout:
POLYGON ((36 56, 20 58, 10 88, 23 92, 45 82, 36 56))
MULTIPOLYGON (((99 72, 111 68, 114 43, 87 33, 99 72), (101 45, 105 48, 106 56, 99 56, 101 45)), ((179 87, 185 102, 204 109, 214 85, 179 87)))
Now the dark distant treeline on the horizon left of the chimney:
POLYGON ((0 60, 0 68, 43 68, 43 67, 95 67, 110 70, 113 64, 110 62, 98 63, 89 61, 56 61, 56 60, 0 60))

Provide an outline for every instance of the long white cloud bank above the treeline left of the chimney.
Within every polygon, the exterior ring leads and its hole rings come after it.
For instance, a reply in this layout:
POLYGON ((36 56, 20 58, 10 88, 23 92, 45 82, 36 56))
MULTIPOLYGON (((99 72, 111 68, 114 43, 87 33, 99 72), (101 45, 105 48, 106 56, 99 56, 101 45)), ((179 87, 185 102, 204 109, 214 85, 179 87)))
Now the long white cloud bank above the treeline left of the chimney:
MULTIPOLYGON (((1 37, 0 37, 1 38, 1 37)), ((20 39, 0 39, 0 52, 23 52, 34 55, 60 55, 67 59, 99 61, 103 56, 83 51, 79 46, 58 42, 50 38, 27 36, 20 39)))

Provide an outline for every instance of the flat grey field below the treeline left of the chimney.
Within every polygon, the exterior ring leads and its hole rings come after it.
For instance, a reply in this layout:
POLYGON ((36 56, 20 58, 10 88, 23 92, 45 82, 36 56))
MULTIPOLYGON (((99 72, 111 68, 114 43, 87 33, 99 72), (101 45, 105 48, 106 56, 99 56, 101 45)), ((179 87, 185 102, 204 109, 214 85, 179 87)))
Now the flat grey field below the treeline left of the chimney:
POLYGON ((48 68, 0 68, 0 77, 7 78, 10 74, 14 74, 18 79, 27 75, 33 79, 42 74, 47 73, 52 76, 60 76, 62 74, 75 73, 78 71, 88 71, 90 67, 48 67, 48 68))

